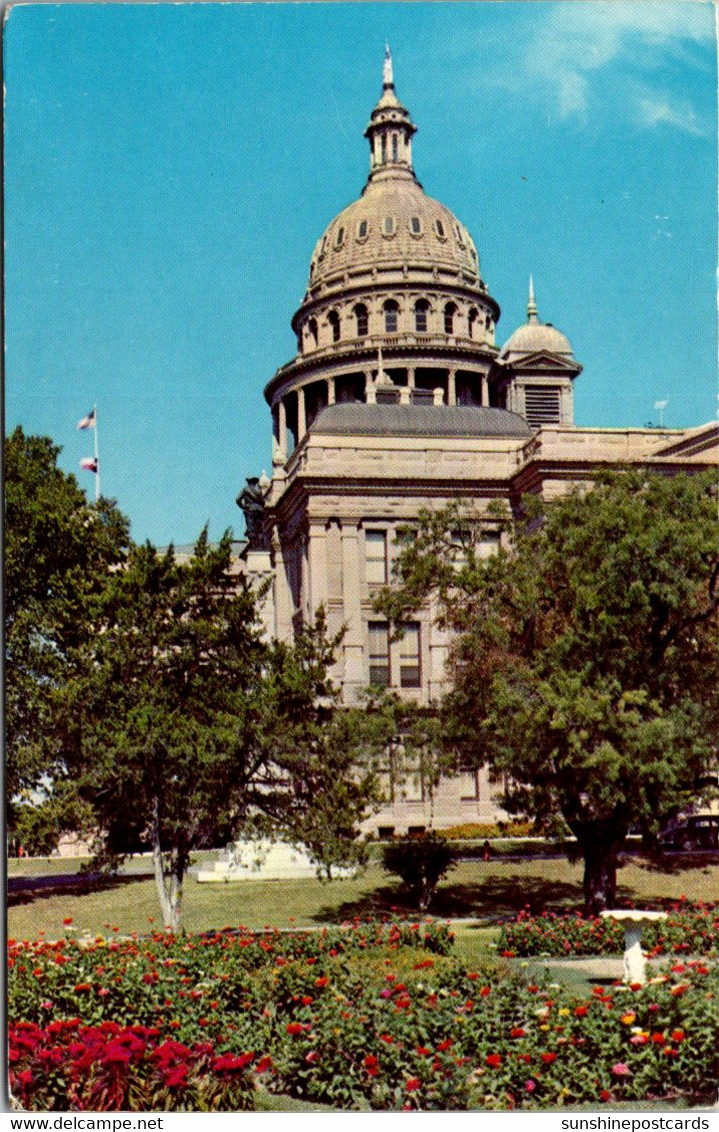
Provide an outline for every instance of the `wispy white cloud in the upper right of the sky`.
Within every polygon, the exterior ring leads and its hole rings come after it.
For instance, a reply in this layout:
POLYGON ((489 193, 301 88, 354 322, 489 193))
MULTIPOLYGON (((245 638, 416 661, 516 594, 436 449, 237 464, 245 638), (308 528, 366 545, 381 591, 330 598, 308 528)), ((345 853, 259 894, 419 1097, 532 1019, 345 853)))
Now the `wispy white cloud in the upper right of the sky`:
POLYGON ((543 93, 560 117, 584 122, 602 96, 607 78, 620 74, 627 83, 627 110, 637 125, 665 123, 690 134, 704 132, 691 103, 671 102, 652 91, 647 74, 677 59, 697 66, 696 48, 714 40, 711 3, 565 0, 532 8, 527 6, 531 33, 512 85, 529 84, 543 93))

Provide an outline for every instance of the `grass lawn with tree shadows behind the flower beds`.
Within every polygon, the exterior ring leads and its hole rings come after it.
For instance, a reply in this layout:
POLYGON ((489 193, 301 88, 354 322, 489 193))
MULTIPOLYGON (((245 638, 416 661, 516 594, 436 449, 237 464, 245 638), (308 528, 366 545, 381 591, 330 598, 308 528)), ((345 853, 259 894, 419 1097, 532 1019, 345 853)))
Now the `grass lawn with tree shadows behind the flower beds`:
MULTIPOLYGON (((199 856, 199 855, 198 855, 199 856)), ((202 855, 207 858, 208 855, 202 855)), ((211 856, 211 855, 209 855, 211 856)), ((50 863, 12 860, 14 876, 75 874, 76 859, 50 863), (60 866, 59 868, 57 866, 60 866)), ((686 895, 695 900, 719 900, 716 866, 659 868, 639 859, 619 872, 617 903, 624 907, 661 906, 686 895)), ((440 885, 433 914, 440 918, 481 919, 511 917, 523 907, 532 911, 581 906, 581 864, 562 858, 546 860, 471 861, 459 865, 440 885)), ((92 935, 117 927, 121 934, 148 932, 160 923, 154 881, 147 858, 137 858, 120 875, 105 882, 70 881, 62 891, 37 889, 10 892, 8 934, 20 940, 63 935, 65 917, 72 927, 92 935)), ((399 882, 378 865, 353 880, 322 884, 316 880, 242 881, 229 884, 198 884, 189 876, 185 885, 183 921, 189 932, 243 924, 251 928, 306 927, 336 924, 354 916, 377 916, 392 911, 412 914, 399 882)), ((463 958, 487 953, 495 933, 464 931, 457 936, 463 958)))

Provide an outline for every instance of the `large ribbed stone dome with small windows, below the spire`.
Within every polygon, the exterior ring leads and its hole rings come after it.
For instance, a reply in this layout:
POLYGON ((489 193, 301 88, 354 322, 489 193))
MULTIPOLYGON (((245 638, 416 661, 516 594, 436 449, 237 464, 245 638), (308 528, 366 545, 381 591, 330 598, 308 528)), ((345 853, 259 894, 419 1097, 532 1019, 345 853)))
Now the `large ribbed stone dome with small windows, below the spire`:
POLYGON ((317 241, 309 290, 357 268, 437 268, 470 285, 479 257, 467 228, 405 170, 370 179, 317 241))

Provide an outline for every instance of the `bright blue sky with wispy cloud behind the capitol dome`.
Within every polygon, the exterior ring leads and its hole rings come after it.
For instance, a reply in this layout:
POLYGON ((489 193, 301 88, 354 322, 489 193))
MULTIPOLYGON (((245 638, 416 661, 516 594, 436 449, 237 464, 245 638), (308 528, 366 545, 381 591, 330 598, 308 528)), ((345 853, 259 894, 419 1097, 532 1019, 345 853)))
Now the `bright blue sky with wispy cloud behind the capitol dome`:
POLYGON ((137 539, 241 533, 263 388, 365 183, 385 40, 426 191, 502 307, 584 366, 579 424, 717 411, 709 3, 38 5, 5 37, 6 427, 78 461, 137 539))

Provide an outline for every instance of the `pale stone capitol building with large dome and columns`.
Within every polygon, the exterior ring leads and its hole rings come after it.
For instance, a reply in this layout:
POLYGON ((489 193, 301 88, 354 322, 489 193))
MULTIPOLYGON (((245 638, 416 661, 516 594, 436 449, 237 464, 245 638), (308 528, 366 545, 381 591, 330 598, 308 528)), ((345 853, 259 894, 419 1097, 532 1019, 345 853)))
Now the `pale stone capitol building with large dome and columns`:
MULTIPOLYGON (((249 479, 238 499, 241 567, 271 578, 267 632, 291 641, 324 606, 331 632, 345 627, 334 678, 348 705, 369 686, 426 706, 446 689, 447 638, 431 611, 395 641, 374 607, 392 577, 397 532, 422 508, 463 500, 490 555, 506 538, 495 500, 515 509, 528 492, 553 498, 613 465, 673 473, 719 461, 713 422, 574 424, 582 366, 572 344, 541 321, 531 281, 525 324, 498 337, 499 305, 471 233, 414 172, 416 130, 387 50, 365 130, 367 183, 317 241, 292 317, 297 353, 265 388, 272 478, 249 479)), ((368 830, 502 816, 483 770, 457 767, 431 789, 419 771, 393 781, 388 766, 386 797, 368 830)))

